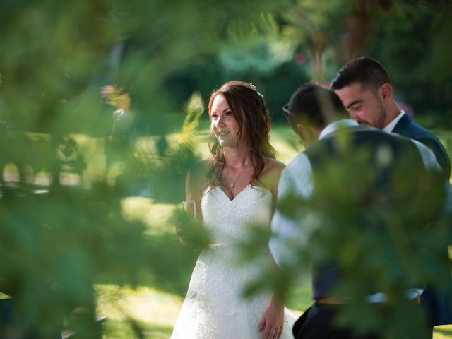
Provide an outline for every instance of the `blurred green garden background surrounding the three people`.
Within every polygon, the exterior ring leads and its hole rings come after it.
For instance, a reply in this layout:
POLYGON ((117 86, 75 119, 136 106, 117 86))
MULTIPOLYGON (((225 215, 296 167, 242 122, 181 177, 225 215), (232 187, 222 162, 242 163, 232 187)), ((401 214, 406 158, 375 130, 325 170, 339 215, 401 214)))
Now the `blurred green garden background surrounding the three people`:
POLYGON ((290 95, 374 57, 452 157, 451 15, 448 0, 0 1, 1 338, 169 338, 196 260, 174 215, 226 81, 264 95, 287 163, 290 95))

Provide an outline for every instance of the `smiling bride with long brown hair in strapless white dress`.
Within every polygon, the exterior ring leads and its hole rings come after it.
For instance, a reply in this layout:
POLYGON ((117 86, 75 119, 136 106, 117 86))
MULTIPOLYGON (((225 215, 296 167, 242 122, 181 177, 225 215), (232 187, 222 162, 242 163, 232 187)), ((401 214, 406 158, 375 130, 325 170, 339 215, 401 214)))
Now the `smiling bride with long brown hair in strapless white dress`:
MULTIPOLYGON (((189 172, 186 198, 196 202, 211 243, 201 251, 172 339, 292 338, 295 316, 271 295, 245 299, 259 267, 239 264, 237 243, 250 225, 270 227, 284 165, 269 142, 270 119, 252 84, 230 81, 210 97, 210 151, 202 173, 189 172)), ((274 264, 263 249, 262 260, 274 264)))

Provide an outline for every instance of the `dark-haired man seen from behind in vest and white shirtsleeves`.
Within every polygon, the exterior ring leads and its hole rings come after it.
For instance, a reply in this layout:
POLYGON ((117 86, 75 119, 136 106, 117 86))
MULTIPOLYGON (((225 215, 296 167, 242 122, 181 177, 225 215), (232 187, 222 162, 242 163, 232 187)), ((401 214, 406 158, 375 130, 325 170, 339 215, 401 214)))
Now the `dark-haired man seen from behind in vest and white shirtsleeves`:
MULTIPOLYGON (((427 224, 441 204, 441 169, 432 151, 421 143, 359 126, 352 119, 340 119, 346 111, 333 90, 307 83, 292 95, 283 110, 306 150, 281 174, 269 246, 283 270, 297 270, 303 261, 301 256, 312 256, 313 267, 314 304, 297 320, 292 333, 297 339, 380 338, 376 332, 355 335, 352 328, 335 325, 335 316, 355 300, 350 298, 357 297, 338 294, 337 287, 345 279, 363 273, 350 273, 350 267, 344 266, 343 261, 338 263, 336 258, 346 256, 356 244, 349 242, 349 237, 364 234, 364 238, 368 233, 381 237, 391 228, 385 217, 393 217, 389 214, 393 210, 402 212, 397 220, 403 227, 412 220, 422 227, 427 224), (427 183, 432 184, 427 187, 427 183), (432 213, 412 206, 413 197, 424 196, 421 193, 425 194, 425 189, 432 213), (404 213, 406 208, 413 209, 404 213), (333 242, 325 245, 325 239, 333 242)), ((416 203, 423 205, 425 201, 416 203)), ((367 257, 366 251, 358 253, 363 254, 360 260, 374 259, 367 257)), ((375 290, 379 287, 377 273, 369 269, 363 274, 368 275, 371 285, 363 297, 365 302, 390 301, 375 290)), ((404 288, 415 287, 409 286, 408 278, 403 283, 404 288)), ((417 304, 420 291, 410 289, 406 297, 411 314, 422 319, 417 304)))

